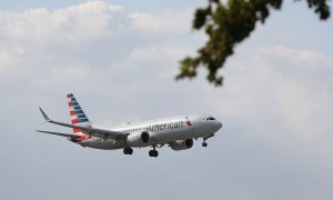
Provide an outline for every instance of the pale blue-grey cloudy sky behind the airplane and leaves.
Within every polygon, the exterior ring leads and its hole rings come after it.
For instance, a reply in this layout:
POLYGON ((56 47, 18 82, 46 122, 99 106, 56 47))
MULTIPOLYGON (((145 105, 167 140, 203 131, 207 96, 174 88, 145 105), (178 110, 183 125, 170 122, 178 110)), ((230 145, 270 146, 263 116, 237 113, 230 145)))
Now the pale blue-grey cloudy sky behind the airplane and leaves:
MULTIPOLYGON (((0 2, 0 199, 329 200, 333 197, 332 19, 285 2, 238 46, 214 88, 174 81, 205 37, 205 0, 0 2), (104 127, 183 113, 223 122, 203 149, 83 149, 36 129, 69 121, 65 93, 104 127)), ((332 7, 332 3, 331 3, 332 7)))

